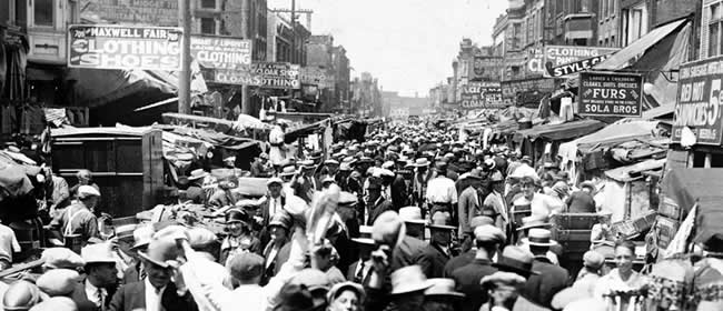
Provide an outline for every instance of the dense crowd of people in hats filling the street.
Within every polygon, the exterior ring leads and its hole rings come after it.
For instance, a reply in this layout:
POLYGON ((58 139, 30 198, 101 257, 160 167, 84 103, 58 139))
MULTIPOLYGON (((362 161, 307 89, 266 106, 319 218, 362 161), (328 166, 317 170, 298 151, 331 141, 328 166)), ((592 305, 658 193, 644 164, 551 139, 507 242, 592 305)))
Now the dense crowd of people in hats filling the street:
MULTIPOLYGON (((614 244, 614 269, 594 250, 585 253, 580 273, 559 265, 563 250, 549 218, 598 212, 604 219, 610 212, 596 203, 595 183, 574 187, 552 159, 533 162, 426 123, 388 127, 365 142, 337 142, 330 151, 326 158, 305 152, 281 161, 259 154, 250 174, 267 179, 260 200, 236 193, 234 177, 217 180, 199 169, 179 179, 177 200, 222 215, 221 234, 178 219, 109 231, 93 212, 99 188, 81 171, 68 191, 69 204, 51 207, 57 239, 77 243, 44 250, 41 273, 0 283, 2 305, 17 311, 640 305, 647 280, 633 270, 635 247, 615 241, 604 221, 591 238, 593 245, 614 244)), ((12 253, 12 245, 2 248, 12 253)))

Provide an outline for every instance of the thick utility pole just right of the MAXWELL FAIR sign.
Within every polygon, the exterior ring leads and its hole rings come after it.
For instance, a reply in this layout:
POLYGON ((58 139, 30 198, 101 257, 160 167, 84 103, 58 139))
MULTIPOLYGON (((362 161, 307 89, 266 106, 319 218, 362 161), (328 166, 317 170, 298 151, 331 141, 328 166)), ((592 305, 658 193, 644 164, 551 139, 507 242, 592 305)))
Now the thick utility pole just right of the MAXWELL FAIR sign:
POLYGON ((178 113, 191 112, 191 8, 190 0, 178 0, 178 24, 184 28, 181 71, 178 79, 178 113))

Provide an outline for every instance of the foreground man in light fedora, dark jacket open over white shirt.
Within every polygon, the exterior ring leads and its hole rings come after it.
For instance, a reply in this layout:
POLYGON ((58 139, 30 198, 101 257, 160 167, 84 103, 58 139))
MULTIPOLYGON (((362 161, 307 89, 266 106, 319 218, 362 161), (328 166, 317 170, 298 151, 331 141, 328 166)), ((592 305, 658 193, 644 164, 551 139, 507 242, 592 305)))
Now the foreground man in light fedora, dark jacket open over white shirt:
POLYGON ((174 262, 179 250, 170 238, 155 239, 148 252, 139 253, 143 260, 147 278, 121 287, 113 295, 109 311, 198 311, 198 305, 185 285, 171 282, 174 262), (185 291, 181 293, 180 290, 185 291))

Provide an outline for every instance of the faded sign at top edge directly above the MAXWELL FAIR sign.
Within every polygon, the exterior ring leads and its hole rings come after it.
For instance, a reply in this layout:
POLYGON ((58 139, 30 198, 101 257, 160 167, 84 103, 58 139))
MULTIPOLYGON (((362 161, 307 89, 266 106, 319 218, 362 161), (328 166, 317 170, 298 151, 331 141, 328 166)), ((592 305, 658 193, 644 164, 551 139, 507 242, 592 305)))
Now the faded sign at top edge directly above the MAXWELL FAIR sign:
POLYGON ((81 16, 119 24, 178 26, 178 0, 80 0, 81 16))

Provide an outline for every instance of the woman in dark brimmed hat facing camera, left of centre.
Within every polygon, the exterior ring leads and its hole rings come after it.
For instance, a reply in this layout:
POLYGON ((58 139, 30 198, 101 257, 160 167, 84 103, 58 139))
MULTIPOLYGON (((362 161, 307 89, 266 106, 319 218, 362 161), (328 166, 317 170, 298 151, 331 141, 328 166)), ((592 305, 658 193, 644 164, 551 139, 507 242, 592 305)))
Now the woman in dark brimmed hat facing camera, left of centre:
POLYGON ((252 252, 260 253, 261 242, 251 234, 248 214, 239 209, 230 209, 226 212, 226 224, 228 235, 221 242, 219 262, 226 261, 236 253, 252 252))

